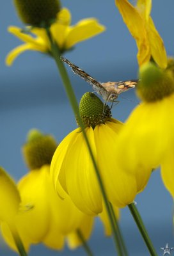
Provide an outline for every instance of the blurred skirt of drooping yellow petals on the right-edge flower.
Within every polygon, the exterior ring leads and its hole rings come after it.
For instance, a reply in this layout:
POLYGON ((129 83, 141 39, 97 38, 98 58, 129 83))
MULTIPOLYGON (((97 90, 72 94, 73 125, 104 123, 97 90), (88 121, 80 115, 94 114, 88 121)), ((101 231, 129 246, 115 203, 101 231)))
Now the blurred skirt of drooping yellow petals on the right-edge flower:
POLYGON ((151 169, 159 166, 173 143, 174 116, 168 110, 174 108, 173 99, 174 95, 171 95, 157 102, 141 104, 132 111, 120 132, 116 161, 127 172, 141 170, 142 176, 139 175, 138 180, 143 183, 151 169))

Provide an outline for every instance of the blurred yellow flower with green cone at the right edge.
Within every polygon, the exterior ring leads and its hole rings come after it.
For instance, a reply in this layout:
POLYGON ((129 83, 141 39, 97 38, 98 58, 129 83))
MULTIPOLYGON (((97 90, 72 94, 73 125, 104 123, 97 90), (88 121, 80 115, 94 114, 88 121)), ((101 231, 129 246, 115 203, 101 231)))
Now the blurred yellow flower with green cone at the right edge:
POLYGON ((150 169, 162 165, 164 184, 173 189, 173 74, 152 64, 142 67, 140 74, 138 92, 143 95, 143 102, 132 111, 120 132, 116 161, 120 170, 137 170, 139 179, 149 177, 150 169))

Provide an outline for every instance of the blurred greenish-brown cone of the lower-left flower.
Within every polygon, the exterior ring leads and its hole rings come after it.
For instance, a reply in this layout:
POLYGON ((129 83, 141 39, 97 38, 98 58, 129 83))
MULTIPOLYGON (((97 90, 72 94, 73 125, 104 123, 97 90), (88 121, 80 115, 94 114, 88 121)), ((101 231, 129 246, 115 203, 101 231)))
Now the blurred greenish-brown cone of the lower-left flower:
POLYGON ((33 129, 29 131, 27 142, 22 147, 22 153, 30 170, 51 164, 52 156, 58 147, 51 135, 44 135, 33 129))

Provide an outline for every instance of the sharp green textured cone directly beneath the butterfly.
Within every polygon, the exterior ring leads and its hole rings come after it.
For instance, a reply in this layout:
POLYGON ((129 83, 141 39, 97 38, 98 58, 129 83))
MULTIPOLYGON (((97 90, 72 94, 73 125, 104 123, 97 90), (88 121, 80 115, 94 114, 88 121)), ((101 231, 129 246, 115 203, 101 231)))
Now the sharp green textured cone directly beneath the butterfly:
POLYGON ((111 109, 94 93, 84 93, 79 104, 79 113, 84 125, 94 127, 105 124, 111 118, 111 109))

